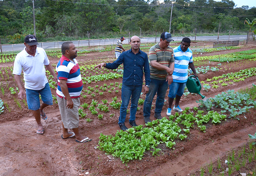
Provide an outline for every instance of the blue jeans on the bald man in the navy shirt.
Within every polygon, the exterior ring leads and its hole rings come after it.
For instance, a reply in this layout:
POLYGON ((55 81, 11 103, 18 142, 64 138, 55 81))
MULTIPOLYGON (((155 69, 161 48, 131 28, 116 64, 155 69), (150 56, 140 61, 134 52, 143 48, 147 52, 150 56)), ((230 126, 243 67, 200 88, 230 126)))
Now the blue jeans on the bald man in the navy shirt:
POLYGON ((130 109, 130 120, 135 120, 135 114, 138 107, 138 101, 141 95, 142 85, 132 86, 132 85, 122 85, 122 104, 120 107, 120 116, 118 124, 123 124, 126 118, 126 110, 131 98, 131 109, 130 109))

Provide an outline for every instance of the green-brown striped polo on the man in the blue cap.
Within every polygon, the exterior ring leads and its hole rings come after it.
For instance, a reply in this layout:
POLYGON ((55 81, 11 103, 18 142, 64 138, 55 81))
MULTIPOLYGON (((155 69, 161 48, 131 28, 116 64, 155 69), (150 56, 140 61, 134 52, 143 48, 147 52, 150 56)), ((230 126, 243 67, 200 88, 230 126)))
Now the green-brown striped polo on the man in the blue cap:
MULTIPOLYGON (((159 43, 152 46, 149 50, 148 55, 149 61, 156 60, 156 62, 169 67, 170 62, 174 62, 174 52, 172 47, 168 46, 165 51, 163 51, 159 43)), ((150 68, 150 78, 157 80, 165 80, 167 77, 166 70, 158 70, 154 67, 149 66, 150 68)))

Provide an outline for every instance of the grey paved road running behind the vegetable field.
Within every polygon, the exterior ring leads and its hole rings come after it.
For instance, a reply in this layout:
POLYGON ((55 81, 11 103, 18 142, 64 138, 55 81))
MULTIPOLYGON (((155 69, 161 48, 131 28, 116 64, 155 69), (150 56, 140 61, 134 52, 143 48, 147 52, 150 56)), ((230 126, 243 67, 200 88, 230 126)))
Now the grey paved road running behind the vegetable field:
MULTIPOLYGON (((191 40, 195 40, 195 36, 187 36, 191 40)), ((246 40, 247 35, 231 35, 230 40, 246 40)), ((182 40, 182 37, 173 37, 174 41, 180 42, 182 40)), ((153 43, 155 41, 159 41, 160 37, 142 37, 141 43, 153 43)), ((197 36, 197 41, 216 41, 217 36, 197 36)), ((219 40, 228 40, 228 35, 222 35, 219 36, 219 40)), ((123 41, 123 44, 127 44, 129 39, 126 38, 126 40, 123 41)), ((39 47, 42 47, 44 49, 48 48, 61 48, 61 44, 64 41, 61 42, 43 42, 39 43, 39 47)), ((80 40, 80 41, 73 41, 73 43, 78 47, 80 46, 99 46, 99 45, 110 45, 112 44, 113 47, 115 47, 115 44, 117 43, 117 39, 94 39, 94 40, 80 40)), ((2 45, 2 51, 20 51, 23 50, 24 44, 8 44, 8 45, 2 45)))

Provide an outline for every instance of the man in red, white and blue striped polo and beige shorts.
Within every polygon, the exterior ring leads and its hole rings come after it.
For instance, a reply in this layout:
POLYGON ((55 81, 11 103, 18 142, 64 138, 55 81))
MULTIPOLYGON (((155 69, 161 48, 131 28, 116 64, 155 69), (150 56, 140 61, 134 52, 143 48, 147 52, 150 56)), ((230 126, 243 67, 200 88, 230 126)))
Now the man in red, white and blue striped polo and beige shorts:
POLYGON ((75 57, 77 48, 73 42, 64 42, 61 45, 62 56, 56 66, 58 75, 58 87, 56 90, 63 134, 62 139, 76 137, 76 142, 83 143, 91 141, 79 133, 78 108, 80 106, 80 94, 83 82, 80 68, 75 57), (72 129, 73 132, 68 132, 72 129))

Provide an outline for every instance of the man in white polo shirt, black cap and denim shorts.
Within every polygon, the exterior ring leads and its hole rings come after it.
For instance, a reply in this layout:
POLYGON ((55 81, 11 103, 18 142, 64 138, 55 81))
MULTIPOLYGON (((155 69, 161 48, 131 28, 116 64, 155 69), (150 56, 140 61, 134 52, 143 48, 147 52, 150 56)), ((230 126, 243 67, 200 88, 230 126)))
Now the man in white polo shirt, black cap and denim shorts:
POLYGON ((41 118, 46 120, 47 116, 43 109, 52 105, 52 95, 48 80, 45 75, 45 68, 53 75, 53 80, 57 83, 57 76, 51 66, 46 52, 43 48, 37 48, 38 42, 34 35, 27 35, 24 39, 25 48, 19 52, 14 61, 13 75, 15 83, 19 89, 18 98, 23 100, 26 97, 28 109, 32 110, 32 114, 38 125, 37 134, 44 133, 44 127, 41 118), (25 89, 21 84, 20 74, 23 69, 25 89), (40 104, 39 94, 42 103, 40 104))

